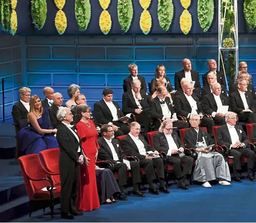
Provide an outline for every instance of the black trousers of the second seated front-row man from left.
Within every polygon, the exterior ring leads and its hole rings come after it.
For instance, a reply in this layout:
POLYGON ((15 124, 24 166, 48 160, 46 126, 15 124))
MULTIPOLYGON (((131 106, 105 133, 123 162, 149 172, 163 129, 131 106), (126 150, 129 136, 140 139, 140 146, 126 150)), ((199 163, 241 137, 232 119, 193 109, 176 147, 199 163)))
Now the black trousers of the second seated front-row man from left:
POLYGON ((146 176, 148 182, 152 182, 156 179, 155 175, 155 168, 158 179, 164 179, 165 178, 165 168, 164 163, 161 158, 154 158, 154 159, 143 159, 139 160, 140 167, 145 169, 146 176))

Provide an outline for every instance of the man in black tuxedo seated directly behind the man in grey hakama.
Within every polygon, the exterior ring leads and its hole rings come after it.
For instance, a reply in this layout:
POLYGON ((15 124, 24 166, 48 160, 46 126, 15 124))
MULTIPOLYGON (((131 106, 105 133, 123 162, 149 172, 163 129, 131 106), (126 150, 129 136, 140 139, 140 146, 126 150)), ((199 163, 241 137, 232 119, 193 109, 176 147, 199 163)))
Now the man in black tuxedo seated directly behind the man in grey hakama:
POLYGON ((189 121, 191 114, 199 114, 201 120, 200 127, 206 127, 208 133, 214 137, 213 120, 204 116, 200 101, 193 93, 192 84, 185 82, 182 85, 182 89, 184 93, 176 96, 176 101, 174 104, 174 110, 176 111, 177 115, 185 116, 187 121, 189 121))

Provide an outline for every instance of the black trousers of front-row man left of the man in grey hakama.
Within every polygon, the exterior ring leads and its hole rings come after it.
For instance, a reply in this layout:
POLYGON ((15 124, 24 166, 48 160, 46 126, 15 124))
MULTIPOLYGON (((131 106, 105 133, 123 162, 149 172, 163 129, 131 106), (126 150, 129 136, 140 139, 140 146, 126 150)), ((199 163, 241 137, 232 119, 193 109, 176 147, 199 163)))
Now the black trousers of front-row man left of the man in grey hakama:
POLYGON ((185 175, 191 175, 193 158, 189 156, 183 156, 180 158, 178 155, 172 154, 168 156, 168 163, 174 166, 174 174, 177 178, 181 178, 185 175), (181 170, 181 163, 184 164, 183 169, 181 170))

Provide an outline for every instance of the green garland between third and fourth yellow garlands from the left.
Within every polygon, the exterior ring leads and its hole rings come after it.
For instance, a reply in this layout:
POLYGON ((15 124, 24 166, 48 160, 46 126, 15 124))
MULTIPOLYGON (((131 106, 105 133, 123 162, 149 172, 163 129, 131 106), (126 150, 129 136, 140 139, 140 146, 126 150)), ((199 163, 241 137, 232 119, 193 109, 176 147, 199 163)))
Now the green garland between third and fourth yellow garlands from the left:
POLYGON ((118 0, 117 17, 122 31, 126 33, 133 18, 132 0, 118 0))

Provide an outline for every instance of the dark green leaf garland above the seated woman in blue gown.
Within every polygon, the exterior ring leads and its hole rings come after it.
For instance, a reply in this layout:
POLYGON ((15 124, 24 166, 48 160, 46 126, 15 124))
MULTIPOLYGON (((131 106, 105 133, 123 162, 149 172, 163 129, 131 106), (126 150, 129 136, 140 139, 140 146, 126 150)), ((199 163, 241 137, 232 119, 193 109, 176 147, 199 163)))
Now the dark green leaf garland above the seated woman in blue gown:
POLYGON ((31 15, 36 29, 42 29, 47 15, 46 0, 31 0, 31 15))

